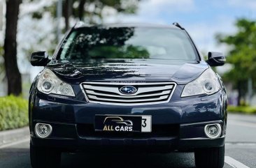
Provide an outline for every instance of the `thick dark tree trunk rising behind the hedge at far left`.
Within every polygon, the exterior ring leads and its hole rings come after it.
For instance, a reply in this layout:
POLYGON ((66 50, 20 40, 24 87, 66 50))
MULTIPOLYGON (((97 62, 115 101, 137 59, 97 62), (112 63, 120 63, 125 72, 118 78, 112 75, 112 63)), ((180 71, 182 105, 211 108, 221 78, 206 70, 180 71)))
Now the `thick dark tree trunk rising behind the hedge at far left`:
POLYGON ((4 65, 8 80, 8 95, 22 93, 22 79, 17 68, 17 20, 22 0, 6 0, 6 38, 4 40, 4 65))

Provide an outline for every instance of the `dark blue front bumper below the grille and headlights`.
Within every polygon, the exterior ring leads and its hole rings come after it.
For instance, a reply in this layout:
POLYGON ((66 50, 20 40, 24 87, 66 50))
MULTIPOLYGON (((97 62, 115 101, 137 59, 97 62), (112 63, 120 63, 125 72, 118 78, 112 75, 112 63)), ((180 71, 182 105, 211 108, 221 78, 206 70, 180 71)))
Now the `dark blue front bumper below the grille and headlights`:
POLYGON ((49 96, 37 93, 31 101, 29 113, 31 144, 62 148, 64 151, 109 151, 111 148, 111 151, 160 152, 223 146, 226 114, 222 102, 220 92, 207 98, 195 96, 136 107, 61 102, 57 99, 50 101, 49 96), (138 136, 97 135, 93 130, 95 114, 151 115, 152 133, 138 136), (52 125, 50 137, 36 137, 36 123, 52 125), (218 139, 208 139, 204 133, 204 126, 211 123, 220 123, 222 126, 222 134, 218 139))

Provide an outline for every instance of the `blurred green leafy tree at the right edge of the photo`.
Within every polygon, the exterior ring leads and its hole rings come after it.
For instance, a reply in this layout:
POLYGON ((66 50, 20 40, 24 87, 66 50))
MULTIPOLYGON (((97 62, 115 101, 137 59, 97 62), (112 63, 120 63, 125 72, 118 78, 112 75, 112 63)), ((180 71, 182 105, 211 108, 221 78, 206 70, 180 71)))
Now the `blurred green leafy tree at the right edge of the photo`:
POLYGON ((236 21, 238 31, 234 35, 218 34, 219 43, 225 43, 232 49, 227 62, 232 69, 225 73, 223 79, 234 84, 239 91, 239 104, 246 95, 248 79, 256 80, 256 22, 246 19, 236 21))

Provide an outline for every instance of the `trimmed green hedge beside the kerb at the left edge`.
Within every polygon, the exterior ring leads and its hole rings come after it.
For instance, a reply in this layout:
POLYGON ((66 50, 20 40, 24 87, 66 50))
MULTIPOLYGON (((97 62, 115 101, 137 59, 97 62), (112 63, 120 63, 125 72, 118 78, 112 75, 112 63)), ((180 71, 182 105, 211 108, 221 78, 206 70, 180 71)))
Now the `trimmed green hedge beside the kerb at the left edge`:
POLYGON ((15 96, 0 98, 0 130, 22 128, 28 124, 27 100, 15 96))

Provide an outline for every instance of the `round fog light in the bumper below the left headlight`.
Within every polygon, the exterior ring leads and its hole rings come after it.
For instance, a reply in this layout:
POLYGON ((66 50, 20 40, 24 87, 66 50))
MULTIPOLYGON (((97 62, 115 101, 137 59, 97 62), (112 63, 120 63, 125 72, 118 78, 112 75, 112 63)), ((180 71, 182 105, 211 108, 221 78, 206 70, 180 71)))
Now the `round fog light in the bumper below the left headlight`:
POLYGON ((47 123, 36 123, 35 133, 37 137, 46 138, 52 133, 52 126, 47 123))

